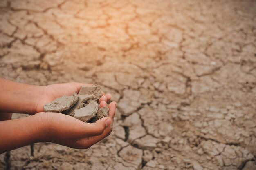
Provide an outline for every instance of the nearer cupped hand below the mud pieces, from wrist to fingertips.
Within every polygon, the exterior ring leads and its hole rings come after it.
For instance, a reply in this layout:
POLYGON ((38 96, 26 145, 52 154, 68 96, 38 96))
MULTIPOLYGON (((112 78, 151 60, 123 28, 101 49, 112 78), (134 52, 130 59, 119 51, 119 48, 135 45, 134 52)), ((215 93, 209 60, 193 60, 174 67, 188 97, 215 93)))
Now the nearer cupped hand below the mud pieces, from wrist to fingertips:
POLYGON ((105 101, 100 107, 108 106, 108 117, 103 117, 95 123, 84 123, 62 113, 41 112, 34 116, 43 123, 38 133, 38 141, 52 142, 76 149, 87 149, 101 141, 112 132, 115 117, 116 102, 109 105, 105 101))

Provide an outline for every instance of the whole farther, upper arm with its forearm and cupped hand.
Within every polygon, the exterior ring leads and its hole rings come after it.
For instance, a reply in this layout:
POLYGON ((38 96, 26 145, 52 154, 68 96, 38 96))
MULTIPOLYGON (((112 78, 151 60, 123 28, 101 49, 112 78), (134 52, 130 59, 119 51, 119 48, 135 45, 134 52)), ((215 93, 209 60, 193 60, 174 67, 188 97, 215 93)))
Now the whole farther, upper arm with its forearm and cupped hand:
MULTIPOLYGON (((3 113, 27 113, 34 115, 43 112, 43 106, 52 102, 57 97, 78 93, 81 85, 91 86, 83 83, 63 83, 48 86, 33 86, 12 82, 0 78, 0 112, 3 113)), ((107 102, 110 94, 104 95, 102 92, 101 101, 107 102)))

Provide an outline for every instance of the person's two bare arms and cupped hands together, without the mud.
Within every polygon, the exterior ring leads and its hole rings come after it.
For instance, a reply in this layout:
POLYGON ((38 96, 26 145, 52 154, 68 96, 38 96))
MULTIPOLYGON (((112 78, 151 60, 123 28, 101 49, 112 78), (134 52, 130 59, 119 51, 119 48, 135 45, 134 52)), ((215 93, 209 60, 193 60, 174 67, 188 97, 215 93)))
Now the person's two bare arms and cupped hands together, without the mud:
MULTIPOLYGON (((0 136, 4 137, 4 140, 0 140, 0 154, 28 144, 47 141, 85 149, 108 136, 112 131, 116 102, 108 105, 108 117, 92 124, 62 113, 42 112, 45 104, 62 95, 78 93, 81 85, 90 86, 81 83, 33 86, 0 78, 0 112, 6 114, 4 119, 10 119, 11 114, 7 113, 33 115, 0 122, 0 136)), ((107 106, 106 102, 110 98, 110 94, 102 93, 100 107, 107 106)))

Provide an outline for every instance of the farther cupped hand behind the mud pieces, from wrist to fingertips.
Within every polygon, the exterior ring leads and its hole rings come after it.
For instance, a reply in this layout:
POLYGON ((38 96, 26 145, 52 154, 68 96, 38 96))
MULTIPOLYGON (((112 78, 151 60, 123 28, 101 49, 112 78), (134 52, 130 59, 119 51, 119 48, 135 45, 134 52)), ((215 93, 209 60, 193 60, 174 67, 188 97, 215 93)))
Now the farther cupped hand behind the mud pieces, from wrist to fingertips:
MULTIPOLYGON (((74 92, 78 93, 82 85, 92 86, 93 84, 83 84, 83 83, 62 83, 62 84, 52 84, 48 86, 40 86, 40 90, 38 91, 38 101, 35 104, 35 113, 43 112, 43 106, 49 102, 52 102, 57 97, 61 97, 63 95, 72 95, 74 92)), ((102 101, 107 102, 110 100, 110 94, 104 94, 102 92, 102 96, 99 99, 99 103, 102 101)))

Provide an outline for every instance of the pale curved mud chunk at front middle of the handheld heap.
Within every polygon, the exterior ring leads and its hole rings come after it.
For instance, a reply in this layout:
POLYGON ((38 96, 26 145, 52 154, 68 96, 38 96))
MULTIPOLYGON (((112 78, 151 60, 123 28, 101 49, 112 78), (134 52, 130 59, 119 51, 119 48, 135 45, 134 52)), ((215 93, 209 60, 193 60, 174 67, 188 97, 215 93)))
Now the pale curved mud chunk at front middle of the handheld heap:
POLYGON ((88 122, 96 116, 98 109, 98 103, 94 100, 90 100, 89 104, 84 108, 74 110, 74 118, 88 122))

